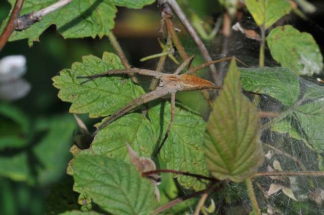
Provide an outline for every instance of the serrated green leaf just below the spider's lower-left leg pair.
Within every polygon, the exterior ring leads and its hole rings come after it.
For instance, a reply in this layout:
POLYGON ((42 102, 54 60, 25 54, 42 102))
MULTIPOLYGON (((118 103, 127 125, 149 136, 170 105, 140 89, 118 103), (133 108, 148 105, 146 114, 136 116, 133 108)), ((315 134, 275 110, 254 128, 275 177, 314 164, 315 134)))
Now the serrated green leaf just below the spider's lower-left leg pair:
MULTIPOLYGON (((104 121, 105 119, 103 119, 104 121)), ((95 137, 89 150, 96 154, 130 160, 123 137, 133 150, 143 157, 153 155, 156 149, 151 123, 141 114, 126 114, 103 128, 95 137)))

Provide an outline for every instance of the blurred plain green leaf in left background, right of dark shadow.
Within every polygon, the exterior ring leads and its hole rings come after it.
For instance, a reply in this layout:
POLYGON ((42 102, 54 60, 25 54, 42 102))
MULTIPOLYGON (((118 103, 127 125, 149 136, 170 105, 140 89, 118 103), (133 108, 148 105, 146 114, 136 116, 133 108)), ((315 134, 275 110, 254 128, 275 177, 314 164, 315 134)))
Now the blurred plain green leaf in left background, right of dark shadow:
POLYGON ((73 144, 72 134, 77 127, 72 115, 56 116, 50 119, 38 119, 36 129, 43 135, 31 149, 37 159, 34 168, 37 170, 39 185, 56 182, 65 175, 69 162, 68 149, 73 144), (59 159, 58 159, 59 157, 59 159))

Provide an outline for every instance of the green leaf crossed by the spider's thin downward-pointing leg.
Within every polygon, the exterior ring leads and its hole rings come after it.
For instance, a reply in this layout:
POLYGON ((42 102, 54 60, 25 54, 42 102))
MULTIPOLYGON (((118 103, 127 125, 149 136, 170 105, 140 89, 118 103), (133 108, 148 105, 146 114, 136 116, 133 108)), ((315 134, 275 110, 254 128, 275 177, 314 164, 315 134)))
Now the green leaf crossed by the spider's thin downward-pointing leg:
MULTIPOLYGON (((150 103, 149 118, 160 141, 163 140, 171 119, 170 101, 150 103)), ((206 122, 198 113, 177 103, 170 134, 160 156, 167 169, 209 176, 204 158, 203 141, 206 122)), ((194 190, 205 189, 206 184, 196 178, 174 176, 181 186, 194 190)))

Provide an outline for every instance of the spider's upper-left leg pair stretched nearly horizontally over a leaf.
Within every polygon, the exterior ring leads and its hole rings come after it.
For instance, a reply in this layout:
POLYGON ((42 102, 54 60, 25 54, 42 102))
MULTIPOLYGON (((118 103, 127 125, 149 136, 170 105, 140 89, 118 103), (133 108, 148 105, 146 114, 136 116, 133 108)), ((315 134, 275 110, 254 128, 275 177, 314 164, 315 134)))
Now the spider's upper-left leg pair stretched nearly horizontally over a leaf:
POLYGON ((120 70, 109 70, 103 73, 95 74, 95 75, 88 75, 88 76, 77 76, 76 78, 88 78, 88 80, 82 82, 81 84, 84 84, 88 81, 94 80, 99 77, 112 75, 112 74, 130 74, 130 73, 137 73, 140 75, 148 75, 148 76, 154 76, 154 78, 160 78, 164 75, 164 73, 157 72, 154 70, 145 70, 145 69, 138 69, 138 68, 132 68, 132 69, 120 69, 120 70))

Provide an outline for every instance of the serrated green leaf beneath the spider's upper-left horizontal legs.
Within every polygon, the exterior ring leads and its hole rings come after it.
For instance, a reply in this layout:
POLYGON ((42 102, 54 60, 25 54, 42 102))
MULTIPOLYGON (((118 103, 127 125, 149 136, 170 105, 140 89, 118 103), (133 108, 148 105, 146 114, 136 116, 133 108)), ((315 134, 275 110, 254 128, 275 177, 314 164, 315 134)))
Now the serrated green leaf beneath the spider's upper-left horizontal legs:
POLYGON ((131 82, 127 75, 100 77, 80 84, 87 79, 77 79, 77 76, 123 69, 120 59, 113 53, 104 52, 102 60, 92 55, 84 56, 82 60, 83 63, 74 63, 72 69, 62 70, 52 79, 53 85, 60 89, 58 97, 72 103, 70 113, 108 116, 144 94, 144 90, 131 82))

